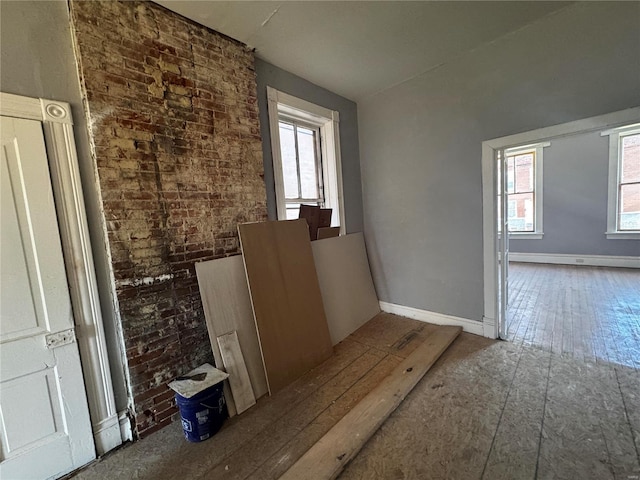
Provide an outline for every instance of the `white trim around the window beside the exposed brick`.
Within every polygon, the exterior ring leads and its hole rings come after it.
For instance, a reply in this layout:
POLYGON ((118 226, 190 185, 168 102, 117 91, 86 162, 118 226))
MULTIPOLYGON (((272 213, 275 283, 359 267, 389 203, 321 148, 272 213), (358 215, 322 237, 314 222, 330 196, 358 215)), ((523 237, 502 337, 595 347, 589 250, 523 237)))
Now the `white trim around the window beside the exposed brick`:
POLYGON ((285 114, 288 117, 302 120, 320 128, 325 204, 327 208, 333 209, 331 225, 340 225, 340 234, 344 235, 346 230, 344 221, 342 162, 340 157, 339 112, 280 92, 269 86, 267 86, 267 100, 278 219, 285 220, 287 218, 284 198, 284 178, 282 175, 282 156, 280 153, 280 130, 278 126, 279 114, 285 114))

